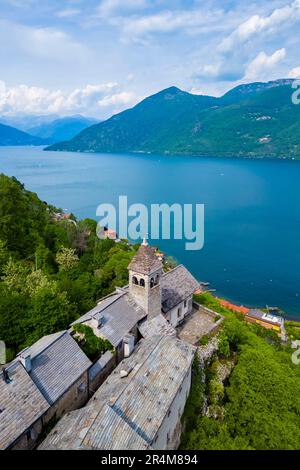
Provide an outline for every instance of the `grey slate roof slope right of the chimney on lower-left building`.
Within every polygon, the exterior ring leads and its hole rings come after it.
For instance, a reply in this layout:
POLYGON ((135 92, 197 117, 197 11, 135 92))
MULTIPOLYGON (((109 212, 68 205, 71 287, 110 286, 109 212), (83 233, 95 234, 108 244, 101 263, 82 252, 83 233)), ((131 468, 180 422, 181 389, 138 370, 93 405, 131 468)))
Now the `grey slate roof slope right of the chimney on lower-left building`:
POLYGON ((30 377, 51 405, 92 365, 67 331, 43 337, 26 352, 30 377))

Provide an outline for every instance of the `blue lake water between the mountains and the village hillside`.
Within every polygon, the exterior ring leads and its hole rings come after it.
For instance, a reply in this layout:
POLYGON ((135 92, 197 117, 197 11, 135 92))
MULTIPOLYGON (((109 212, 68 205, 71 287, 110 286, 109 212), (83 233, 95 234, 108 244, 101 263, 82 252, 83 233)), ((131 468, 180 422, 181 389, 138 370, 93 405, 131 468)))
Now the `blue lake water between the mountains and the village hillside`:
POLYGON ((300 318, 300 162, 44 152, 0 147, 0 171, 51 204, 96 218, 98 204, 205 204, 205 245, 156 242, 218 295, 300 318))

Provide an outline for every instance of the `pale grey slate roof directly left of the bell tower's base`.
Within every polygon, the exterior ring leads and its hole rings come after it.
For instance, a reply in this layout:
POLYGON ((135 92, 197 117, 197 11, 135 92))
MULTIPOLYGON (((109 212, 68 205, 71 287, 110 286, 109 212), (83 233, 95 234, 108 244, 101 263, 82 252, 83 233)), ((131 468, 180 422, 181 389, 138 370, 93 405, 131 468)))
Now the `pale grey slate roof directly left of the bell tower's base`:
POLYGON ((104 299, 74 323, 83 323, 92 318, 99 319, 100 316, 102 320, 99 333, 114 347, 117 347, 124 336, 146 316, 146 313, 133 301, 128 291, 123 291, 112 295, 109 299, 104 299))

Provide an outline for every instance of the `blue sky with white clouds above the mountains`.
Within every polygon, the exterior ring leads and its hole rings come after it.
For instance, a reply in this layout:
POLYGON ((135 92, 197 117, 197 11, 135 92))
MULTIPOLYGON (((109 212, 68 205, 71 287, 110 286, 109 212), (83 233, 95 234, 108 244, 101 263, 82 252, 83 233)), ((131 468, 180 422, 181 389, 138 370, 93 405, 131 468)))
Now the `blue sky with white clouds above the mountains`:
POLYGON ((0 0, 0 114, 97 118, 300 76, 300 0, 0 0))

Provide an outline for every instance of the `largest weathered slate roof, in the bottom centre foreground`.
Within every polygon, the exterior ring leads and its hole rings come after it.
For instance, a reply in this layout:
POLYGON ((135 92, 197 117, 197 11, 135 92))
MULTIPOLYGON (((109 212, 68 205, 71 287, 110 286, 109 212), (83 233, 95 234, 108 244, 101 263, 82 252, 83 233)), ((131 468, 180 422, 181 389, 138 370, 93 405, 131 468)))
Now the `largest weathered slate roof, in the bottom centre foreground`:
POLYGON ((142 340, 88 405, 63 417, 41 449, 150 449, 196 348, 170 336, 142 340), (120 377, 121 370, 128 376, 120 377))

